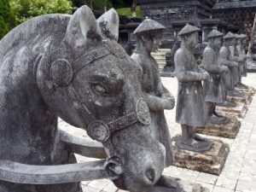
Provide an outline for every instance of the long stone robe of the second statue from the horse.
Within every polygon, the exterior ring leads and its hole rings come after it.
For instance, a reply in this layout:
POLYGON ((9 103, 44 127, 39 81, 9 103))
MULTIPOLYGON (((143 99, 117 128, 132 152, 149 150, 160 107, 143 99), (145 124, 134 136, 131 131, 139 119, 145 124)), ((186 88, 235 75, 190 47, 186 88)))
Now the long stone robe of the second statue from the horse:
POLYGON ((174 56, 178 80, 176 121, 179 124, 202 127, 207 124, 207 108, 201 84, 201 73, 189 49, 181 47, 174 56))

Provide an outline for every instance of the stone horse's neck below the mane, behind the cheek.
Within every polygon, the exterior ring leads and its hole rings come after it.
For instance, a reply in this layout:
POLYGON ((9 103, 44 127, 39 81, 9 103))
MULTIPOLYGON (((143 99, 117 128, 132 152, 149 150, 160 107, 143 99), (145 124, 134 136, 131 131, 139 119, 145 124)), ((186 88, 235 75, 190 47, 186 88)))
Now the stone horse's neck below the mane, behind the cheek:
POLYGON ((38 89, 37 65, 49 39, 27 42, 0 60, 0 156, 29 164, 51 162, 57 116, 38 89), (38 46, 40 44, 40 46, 38 46), (32 155, 32 156, 31 156, 32 155))

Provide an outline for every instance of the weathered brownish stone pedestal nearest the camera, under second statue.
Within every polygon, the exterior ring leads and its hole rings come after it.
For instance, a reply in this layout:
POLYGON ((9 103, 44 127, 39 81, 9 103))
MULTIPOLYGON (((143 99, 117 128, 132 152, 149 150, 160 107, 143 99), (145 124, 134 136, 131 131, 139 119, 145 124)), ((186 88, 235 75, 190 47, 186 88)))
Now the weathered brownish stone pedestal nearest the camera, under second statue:
POLYGON ((224 162, 230 152, 228 144, 220 140, 211 140, 212 147, 206 152, 193 152, 177 148, 175 143, 180 138, 176 136, 172 141, 173 166, 180 166, 198 172, 207 172, 219 175, 223 169, 224 162))

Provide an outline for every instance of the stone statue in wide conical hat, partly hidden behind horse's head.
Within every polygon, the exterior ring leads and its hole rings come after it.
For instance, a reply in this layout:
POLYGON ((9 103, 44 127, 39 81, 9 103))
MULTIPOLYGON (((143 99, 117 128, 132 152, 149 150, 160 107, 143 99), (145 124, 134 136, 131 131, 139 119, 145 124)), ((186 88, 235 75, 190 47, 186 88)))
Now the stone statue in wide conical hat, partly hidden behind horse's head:
POLYGON ((151 55, 152 51, 157 51, 161 40, 161 35, 165 26, 155 20, 145 19, 133 32, 137 37, 137 48, 131 58, 137 62, 143 70, 142 86, 147 94, 148 108, 151 118, 160 126, 155 126, 155 136, 160 143, 166 147, 166 166, 172 165, 172 143, 171 136, 166 123, 164 109, 174 108, 175 101, 172 94, 166 90, 161 83, 160 72, 157 61, 151 55))

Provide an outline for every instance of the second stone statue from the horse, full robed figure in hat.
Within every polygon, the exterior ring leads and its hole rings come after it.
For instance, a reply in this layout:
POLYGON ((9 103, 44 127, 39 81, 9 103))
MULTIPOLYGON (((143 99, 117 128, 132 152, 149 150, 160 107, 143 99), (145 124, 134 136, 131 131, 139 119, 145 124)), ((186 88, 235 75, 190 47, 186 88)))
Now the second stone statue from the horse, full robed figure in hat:
POLYGON ((182 137, 176 145, 201 152, 209 150, 212 142, 195 133, 196 127, 207 125, 207 107, 201 81, 210 78, 205 70, 198 67, 193 55, 199 31, 199 28, 187 24, 178 33, 182 44, 177 49, 174 62, 178 80, 176 121, 182 128, 182 137))

